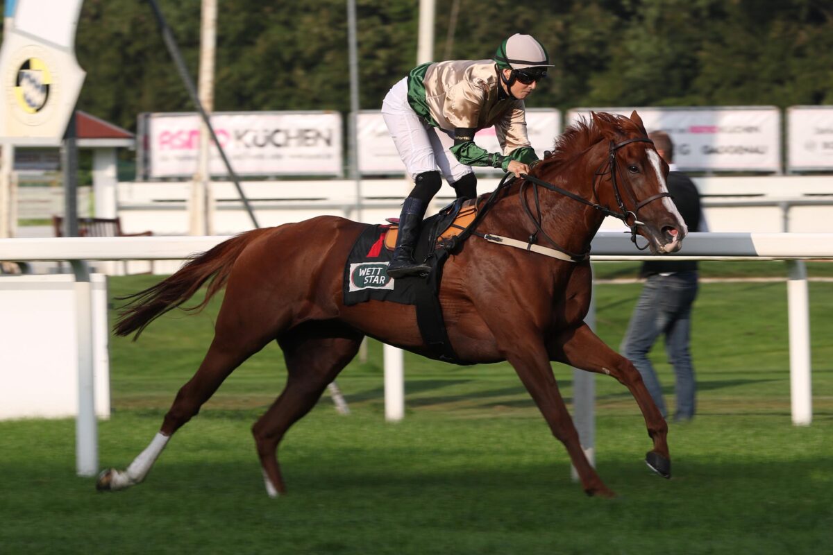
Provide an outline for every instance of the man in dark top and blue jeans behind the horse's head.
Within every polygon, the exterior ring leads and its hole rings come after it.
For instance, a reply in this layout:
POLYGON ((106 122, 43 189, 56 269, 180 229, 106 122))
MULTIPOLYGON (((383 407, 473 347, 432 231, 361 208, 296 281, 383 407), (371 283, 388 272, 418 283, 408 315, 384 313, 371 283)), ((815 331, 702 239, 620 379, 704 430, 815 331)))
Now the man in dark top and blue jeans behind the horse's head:
MULTIPOLYGON (((648 135, 656 151, 668 163, 668 191, 689 231, 706 231, 700 193, 691 179, 674 164, 674 145, 663 131, 648 135)), ((631 323, 622 339, 621 354, 636 366, 642 381, 667 418, 662 388, 648 352, 660 334, 665 335, 668 361, 676 374, 675 422, 691 420, 695 413, 696 383, 691 364, 691 305, 697 296, 696 260, 650 260, 641 268, 646 278, 631 323)))

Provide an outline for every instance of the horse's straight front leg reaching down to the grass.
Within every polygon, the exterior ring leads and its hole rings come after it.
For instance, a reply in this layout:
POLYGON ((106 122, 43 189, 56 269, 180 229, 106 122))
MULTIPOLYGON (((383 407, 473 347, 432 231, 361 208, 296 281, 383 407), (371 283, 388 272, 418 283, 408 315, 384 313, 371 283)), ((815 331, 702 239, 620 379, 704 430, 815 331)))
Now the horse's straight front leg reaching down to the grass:
POLYGON ((576 426, 567 411, 564 399, 561 398, 543 341, 526 339, 532 336, 534 334, 526 334, 523 339, 516 337, 509 342, 511 348, 503 349, 506 360, 535 400, 552 434, 564 444, 584 491, 588 495, 613 497, 615 494, 601 481, 596 469, 587 460, 584 449, 581 448, 576 426))

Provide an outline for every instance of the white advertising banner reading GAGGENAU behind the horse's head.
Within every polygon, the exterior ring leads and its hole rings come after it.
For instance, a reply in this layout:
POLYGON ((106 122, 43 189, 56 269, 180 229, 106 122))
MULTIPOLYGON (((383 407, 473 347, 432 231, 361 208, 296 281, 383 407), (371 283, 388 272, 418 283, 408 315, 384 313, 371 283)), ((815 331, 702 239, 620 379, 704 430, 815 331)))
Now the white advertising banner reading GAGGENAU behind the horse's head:
POLYGON ((647 131, 666 131, 681 171, 781 172, 781 112, 777 107, 576 108, 569 125, 590 111, 630 116, 636 109, 647 131))

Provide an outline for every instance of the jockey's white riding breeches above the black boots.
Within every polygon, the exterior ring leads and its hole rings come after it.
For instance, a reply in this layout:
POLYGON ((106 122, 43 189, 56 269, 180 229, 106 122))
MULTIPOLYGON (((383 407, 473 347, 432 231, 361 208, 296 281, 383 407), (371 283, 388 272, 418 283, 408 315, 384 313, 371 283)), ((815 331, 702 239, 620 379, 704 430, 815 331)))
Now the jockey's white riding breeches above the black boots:
POLYGON ((382 102, 382 116, 408 174, 411 179, 416 179, 425 171, 439 168, 449 184, 456 183, 471 173, 471 166, 461 164, 448 150, 454 146, 451 133, 427 125, 416 115, 408 104, 407 92, 405 77, 387 93, 382 102))

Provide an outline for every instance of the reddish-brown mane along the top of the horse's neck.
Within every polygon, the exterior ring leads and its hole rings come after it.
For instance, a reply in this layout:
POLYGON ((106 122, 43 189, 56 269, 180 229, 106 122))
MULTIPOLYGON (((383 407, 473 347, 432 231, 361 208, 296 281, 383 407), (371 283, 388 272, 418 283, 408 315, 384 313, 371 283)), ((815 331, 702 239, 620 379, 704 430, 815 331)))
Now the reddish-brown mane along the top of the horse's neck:
POLYGON ((604 131, 616 131, 623 136, 631 133, 646 135, 644 128, 626 116, 609 114, 606 111, 597 111, 595 114, 596 117, 590 119, 581 116, 575 123, 568 126, 556 139, 551 153, 541 161, 541 166, 561 165, 574 160, 576 156, 583 154, 591 146, 604 139, 604 131))

